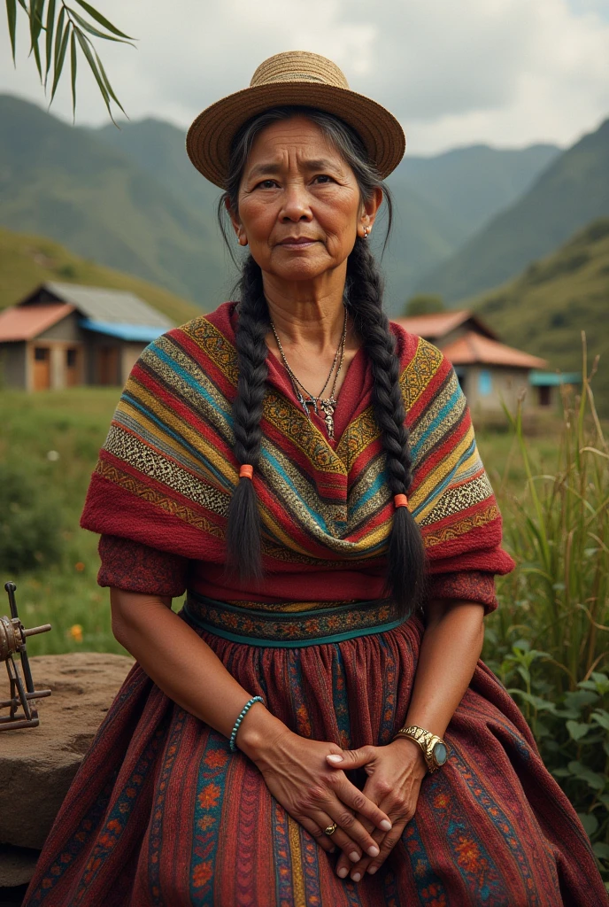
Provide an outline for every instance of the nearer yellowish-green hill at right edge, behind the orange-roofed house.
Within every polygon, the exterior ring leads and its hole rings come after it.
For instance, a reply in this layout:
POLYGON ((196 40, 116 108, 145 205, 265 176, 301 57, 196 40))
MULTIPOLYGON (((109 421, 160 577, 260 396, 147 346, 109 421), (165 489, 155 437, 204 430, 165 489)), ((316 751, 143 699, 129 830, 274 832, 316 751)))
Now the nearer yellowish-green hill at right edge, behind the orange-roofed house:
POLYGON ((585 331, 589 364, 601 356, 596 400, 609 413, 609 218, 595 220, 520 277, 468 305, 507 344, 544 356, 564 372, 581 371, 585 331))

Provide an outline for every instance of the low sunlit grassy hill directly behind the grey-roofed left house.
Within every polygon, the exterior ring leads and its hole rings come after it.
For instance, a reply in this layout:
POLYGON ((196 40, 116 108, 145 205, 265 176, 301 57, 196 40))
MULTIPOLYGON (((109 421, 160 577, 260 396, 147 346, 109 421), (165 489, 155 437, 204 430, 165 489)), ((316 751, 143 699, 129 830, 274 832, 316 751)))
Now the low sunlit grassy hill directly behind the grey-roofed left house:
POLYGON ((0 309, 12 306, 45 280, 130 290, 177 325, 197 317, 201 311, 166 289, 85 261, 52 239, 0 227, 0 309))

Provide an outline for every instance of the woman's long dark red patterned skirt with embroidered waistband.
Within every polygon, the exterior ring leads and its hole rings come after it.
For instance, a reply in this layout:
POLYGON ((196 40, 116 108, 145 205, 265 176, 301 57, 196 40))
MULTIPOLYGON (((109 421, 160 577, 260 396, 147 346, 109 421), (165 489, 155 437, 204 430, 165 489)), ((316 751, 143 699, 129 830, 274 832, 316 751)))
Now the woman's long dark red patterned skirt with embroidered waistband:
MULTIPOLYGON (((260 607, 259 605, 256 607, 260 607)), ((344 748, 401 727, 423 632, 362 603, 180 612, 297 734, 344 748), (323 641, 320 641, 322 639, 323 641), (260 643, 263 643, 262 645, 260 643)), ((391 858, 360 883, 269 794, 256 766, 136 663, 57 816, 24 907, 603 907, 584 829, 482 662, 391 858)))

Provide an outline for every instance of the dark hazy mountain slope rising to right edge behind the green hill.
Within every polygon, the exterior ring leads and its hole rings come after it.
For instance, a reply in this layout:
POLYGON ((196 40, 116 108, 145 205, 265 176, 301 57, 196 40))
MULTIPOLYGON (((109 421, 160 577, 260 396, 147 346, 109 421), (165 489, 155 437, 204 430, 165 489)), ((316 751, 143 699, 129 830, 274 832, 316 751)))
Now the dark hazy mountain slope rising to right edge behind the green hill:
POLYGON ((480 293, 551 253, 577 229, 609 216, 609 120, 565 151, 527 194, 439 268, 420 291, 459 300, 480 293))

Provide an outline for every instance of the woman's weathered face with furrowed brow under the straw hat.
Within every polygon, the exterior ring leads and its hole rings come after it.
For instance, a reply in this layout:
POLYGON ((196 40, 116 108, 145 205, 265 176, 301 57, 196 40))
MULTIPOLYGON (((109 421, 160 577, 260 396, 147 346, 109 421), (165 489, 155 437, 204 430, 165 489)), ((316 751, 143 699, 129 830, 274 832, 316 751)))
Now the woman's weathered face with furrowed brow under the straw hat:
POLYGON ((231 219, 267 274, 310 280, 344 266, 356 235, 372 227, 381 190, 362 202, 351 167, 304 116, 256 136, 231 219))

